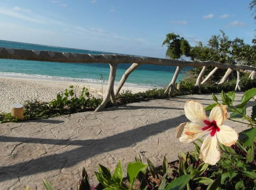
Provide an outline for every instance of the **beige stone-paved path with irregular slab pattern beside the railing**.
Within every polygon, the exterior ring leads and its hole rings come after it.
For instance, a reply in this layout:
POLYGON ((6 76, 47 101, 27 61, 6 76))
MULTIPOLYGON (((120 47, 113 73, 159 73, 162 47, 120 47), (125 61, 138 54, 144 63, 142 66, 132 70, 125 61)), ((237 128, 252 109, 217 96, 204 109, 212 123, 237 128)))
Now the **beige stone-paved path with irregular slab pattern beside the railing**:
MULTIPOLYGON (((243 93, 238 93, 238 100, 243 93)), ((219 97, 219 96, 218 96, 219 97)), ((176 126, 188 121, 184 105, 197 99, 204 106, 213 103, 211 95, 189 95, 173 99, 138 102, 105 109, 22 123, 0 124, 0 189, 42 190, 46 178, 55 187, 67 190, 88 170, 92 184, 97 164, 123 168, 135 156, 156 166, 164 156, 177 158, 180 150, 193 150, 193 144, 180 143, 176 126)), ((238 102, 236 102, 238 104, 238 102)), ((252 103, 252 102, 250 102, 252 103)), ((227 121, 241 131, 244 126, 227 121)))

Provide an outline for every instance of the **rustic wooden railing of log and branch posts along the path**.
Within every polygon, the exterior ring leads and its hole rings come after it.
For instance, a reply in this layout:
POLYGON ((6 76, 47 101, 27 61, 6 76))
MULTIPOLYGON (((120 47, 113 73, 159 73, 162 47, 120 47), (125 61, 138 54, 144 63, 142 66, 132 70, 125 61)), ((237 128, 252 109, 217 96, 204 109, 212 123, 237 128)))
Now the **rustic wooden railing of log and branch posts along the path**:
MULTIPOLYGON (((179 75, 179 72, 184 67, 203 67, 201 73, 197 77, 196 86, 200 87, 200 84, 204 84, 218 69, 227 69, 227 72, 222 77, 218 85, 222 85, 227 81, 228 76, 233 70, 237 72, 237 84, 236 90, 240 90, 240 70, 251 70, 250 78, 254 79, 256 74, 256 67, 246 66, 246 65, 232 65, 232 64, 222 64, 215 61, 178 61, 170 59, 160 59, 154 57, 139 57, 139 56, 129 56, 129 55, 119 55, 119 54, 82 54, 82 53, 61 53, 61 52, 51 52, 51 51, 39 51, 39 50, 25 50, 25 49, 8 49, 0 48, 0 58, 1 59, 19 59, 19 60, 33 60, 33 61, 53 61, 53 62, 69 62, 69 63, 108 63, 110 67, 108 88, 105 93, 105 97, 101 103, 95 109, 99 111, 105 107, 109 98, 113 104, 116 103, 115 96, 119 93, 120 89, 124 85, 126 79, 139 65, 150 64, 150 65, 168 65, 176 66, 176 71, 172 77, 172 81, 166 89, 166 93, 172 94, 175 88, 175 82, 179 75), (114 81, 116 77, 116 71, 118 64, 122 63, 132 63, 132 65, 123 74, 121 80, 118 83, 118 87, 114 92, 114 81), (209 75, 201 81, 204 76, 207 67, 213 66, 214 69, 209 73, 209 75)), ((168 79, 167 79, 168 80, 168 79)))

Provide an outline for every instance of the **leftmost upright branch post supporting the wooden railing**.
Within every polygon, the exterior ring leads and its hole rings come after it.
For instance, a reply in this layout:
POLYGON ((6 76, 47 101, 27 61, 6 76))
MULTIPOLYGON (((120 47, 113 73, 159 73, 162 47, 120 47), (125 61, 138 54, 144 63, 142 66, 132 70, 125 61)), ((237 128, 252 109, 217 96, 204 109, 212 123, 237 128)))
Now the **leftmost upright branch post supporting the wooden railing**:
POLYGON ((101 105, 99 105, 95 109, 95 112, 100 111, 101 109, 105 108, 111 94, 112 94, 112 98, 113 98, 113 103, 115 101, 115 97, 113 96, 113 89, 114 89, 114 82, 115 82, 115 78, 116 78, 118 63, 117 62, 109 63, 109 67, 110 67, 110 71, 109 71, 109 81, 108 81, 107 92, 105 94, 105 97, 103 98, 103 101, 101 102, 101 105))

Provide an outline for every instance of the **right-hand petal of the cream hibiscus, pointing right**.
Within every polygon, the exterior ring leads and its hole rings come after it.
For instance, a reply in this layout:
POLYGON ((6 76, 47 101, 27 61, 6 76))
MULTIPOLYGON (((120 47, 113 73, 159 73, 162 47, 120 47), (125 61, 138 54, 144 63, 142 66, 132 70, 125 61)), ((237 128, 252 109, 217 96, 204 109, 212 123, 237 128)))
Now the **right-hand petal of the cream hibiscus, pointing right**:
POLYGON ((225 146, 234 145, 238 139, 238 134, 227 125, 218 125, 220 128, 219 131, 216 132, 218 141, 220 141, 225 146))

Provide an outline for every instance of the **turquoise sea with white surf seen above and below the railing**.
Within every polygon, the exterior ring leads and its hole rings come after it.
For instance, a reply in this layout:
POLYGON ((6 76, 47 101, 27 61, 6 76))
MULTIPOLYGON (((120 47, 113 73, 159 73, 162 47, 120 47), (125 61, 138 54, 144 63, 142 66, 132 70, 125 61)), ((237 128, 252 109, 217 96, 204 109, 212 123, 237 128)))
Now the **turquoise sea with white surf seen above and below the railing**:
MULTIPOLYGON (((6 40, 0 40, 0 47, 48 50, 70 53, 108 53, 83 49, 71 49, 38 44, 27 44, 6 40)), ((130 65, 131 64, 118 65, 116 82, 121 79, 123 73, 130 65)), ((129 78, 126 81, 126 84, 147 87, 164 87, 168 85, 169 82, 172 80, 175 69, 176 67, 173 66, 140 65, 133 73, 130 74, 129 78)), ((177 81, 185 77, 185 70, 187 69, 185 68, 182 72, 180 72, 177 81)), ((38 79, 41 78, 53 81, 89 81, 100 83, 101 79, 104 81, 108 80, 109 65, 95 63, 58 63, 46 61, 0 59, 0 76, 38 79)))

